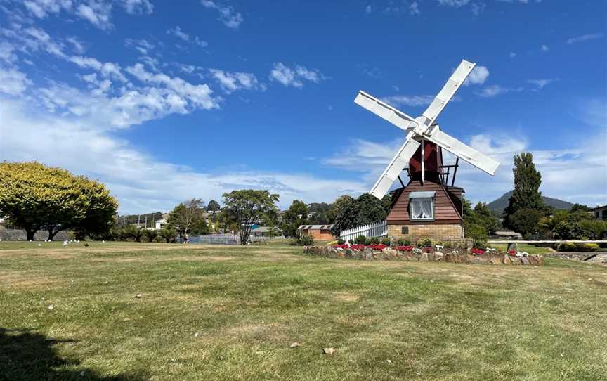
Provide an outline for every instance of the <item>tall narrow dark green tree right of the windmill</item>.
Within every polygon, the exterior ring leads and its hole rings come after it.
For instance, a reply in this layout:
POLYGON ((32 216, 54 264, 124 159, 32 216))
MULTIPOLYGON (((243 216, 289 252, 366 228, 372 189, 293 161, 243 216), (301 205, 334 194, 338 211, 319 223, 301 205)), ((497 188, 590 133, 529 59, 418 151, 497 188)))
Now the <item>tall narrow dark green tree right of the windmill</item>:
MULTIPOLYGON (((535 169, 533 155, 529 152, 514 155, 514 191, 508 200, 508 206, 504 209, 504 224, 516 231, 514 226, 518 223, 512 217, 521 209, 537 210, 540 214, 545 211, 542 201, 542 192, 539 191, 542 184, 542 175, 535 169)), ((534 214, 535 216, 535 214, 534 214)), ((521 217, 518 214, 518 217, 521 217)), ((524 219, 523 220, 528 220, 524 219)), ((520 218, 519 218, 520 221, 520 218)), ((519 231, 518 233, 522 233, 519 231)))

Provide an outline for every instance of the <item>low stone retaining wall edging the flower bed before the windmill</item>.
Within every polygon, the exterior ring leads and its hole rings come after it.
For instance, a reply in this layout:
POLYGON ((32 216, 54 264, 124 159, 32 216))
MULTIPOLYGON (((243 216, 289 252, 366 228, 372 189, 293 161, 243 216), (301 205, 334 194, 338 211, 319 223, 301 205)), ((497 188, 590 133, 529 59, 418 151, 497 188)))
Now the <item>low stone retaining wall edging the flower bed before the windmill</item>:
POLYGON ((483 255, 472 255, 464 250, 444 250, 443 252, 401 252, 391 247, 384 250, 373 250, 365 247, 363 250, 338 249, 331 246, 308 246, 304 254, 327 258, 349 259, 384 259, 404 261, 443 261, 449 263, 470 264, 502 264, 502 265, 531 265, 542 266, 544 258, 541 255, 528 255, 527 257, 511 257, 508 254, 485 252, 483 255))

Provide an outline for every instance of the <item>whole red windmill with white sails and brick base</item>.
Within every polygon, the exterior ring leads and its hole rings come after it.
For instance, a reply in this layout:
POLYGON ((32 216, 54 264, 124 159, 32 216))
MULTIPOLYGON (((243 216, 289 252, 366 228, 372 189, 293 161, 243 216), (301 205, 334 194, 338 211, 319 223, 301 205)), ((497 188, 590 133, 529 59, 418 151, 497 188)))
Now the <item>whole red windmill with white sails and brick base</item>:
MULTIPOLYGON (((392 192, 386 231, 391 238, 462 242, 464 238, 463 193, 454 186, 459 159, 493 176, 499 162, 483 155, 456 138, 445 134, 436 120, 457 89, 464 83, 475 63, 462 60, 443 89, 419 117, 411 117, 373 96, 359 91, 355 103, 405 131, 405 141, 370 193, 381 199, 398 179, 403 186, 392 192), (457 157, 455 165, 443 165, 443 151, 457 157), (454 168, 449 185, 450 169, 454 168), (400 173, 406 170, 405 185, 400 173)), ((383 223, 382 223, 383 224, 383 223)))

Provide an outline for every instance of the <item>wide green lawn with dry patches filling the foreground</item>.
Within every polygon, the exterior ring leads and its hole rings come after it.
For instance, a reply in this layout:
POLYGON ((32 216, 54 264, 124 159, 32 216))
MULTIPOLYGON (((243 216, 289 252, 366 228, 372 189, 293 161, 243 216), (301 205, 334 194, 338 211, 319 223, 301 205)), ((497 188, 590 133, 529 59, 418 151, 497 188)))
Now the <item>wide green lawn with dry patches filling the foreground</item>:
POLYGON ((0 243, 0 380, 607 378, 601 266, 37 244, 0 243))

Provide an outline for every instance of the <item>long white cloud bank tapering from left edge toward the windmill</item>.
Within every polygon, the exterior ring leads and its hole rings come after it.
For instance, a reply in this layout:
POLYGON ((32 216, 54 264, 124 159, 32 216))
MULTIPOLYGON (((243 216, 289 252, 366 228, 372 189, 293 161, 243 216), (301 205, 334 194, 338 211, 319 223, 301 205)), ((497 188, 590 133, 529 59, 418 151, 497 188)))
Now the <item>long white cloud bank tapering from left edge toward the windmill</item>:
POLYGON ((223 193, 241 188, 279 193, 282 207, 294 199, 327 202, 338 195, 365 191, 359 181, 306 173, 197 172, 141 153, 100 131, 96 124, 40 112, 25 102, 0 99, 0 115, 6 122, 1 127, 1 160, 39 160, 99 179, 117 196, 122 213, 168 211, 192 197, 221 200, 223 193))

